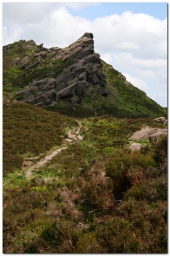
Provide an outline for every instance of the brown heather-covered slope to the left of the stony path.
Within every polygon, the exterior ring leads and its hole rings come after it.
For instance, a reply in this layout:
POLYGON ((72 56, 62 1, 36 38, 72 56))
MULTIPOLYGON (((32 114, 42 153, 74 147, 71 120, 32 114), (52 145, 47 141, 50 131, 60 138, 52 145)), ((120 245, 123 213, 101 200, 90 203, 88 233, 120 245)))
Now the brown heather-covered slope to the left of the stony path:
POLYGON ((64 140, 74 120, 22 102, 3 104, 3 174, 21 168, 24 156, 38 156, 64 140))

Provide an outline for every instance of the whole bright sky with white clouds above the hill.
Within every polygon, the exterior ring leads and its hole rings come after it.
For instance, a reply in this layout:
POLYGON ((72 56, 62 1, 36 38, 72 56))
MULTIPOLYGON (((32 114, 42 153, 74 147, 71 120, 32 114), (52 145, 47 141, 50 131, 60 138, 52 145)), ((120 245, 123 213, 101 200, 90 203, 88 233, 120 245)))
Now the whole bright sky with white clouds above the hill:
POLYGON ((85 32, 101 59, 167 106, 167 3, 3 3, 3 45, 66 47, 85 32))

